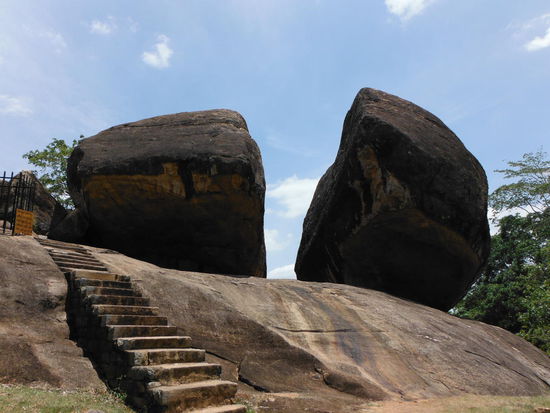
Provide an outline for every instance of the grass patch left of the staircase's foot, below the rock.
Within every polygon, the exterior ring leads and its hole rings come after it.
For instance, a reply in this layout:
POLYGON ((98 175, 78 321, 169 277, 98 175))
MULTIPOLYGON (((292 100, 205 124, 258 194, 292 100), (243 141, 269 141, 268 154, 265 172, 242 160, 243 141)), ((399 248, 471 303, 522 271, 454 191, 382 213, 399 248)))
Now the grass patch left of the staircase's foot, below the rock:
POLYGON ((133 413, 111 393, 46 390, 29 386, 0 385, 0 406, 10 413, 133 413))

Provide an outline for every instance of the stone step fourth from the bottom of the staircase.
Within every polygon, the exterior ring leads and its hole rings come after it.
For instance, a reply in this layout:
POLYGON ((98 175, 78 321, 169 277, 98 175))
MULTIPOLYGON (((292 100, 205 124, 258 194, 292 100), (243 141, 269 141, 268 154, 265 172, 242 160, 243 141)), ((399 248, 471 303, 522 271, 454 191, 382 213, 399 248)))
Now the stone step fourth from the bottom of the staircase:
POLYGON ((126 350, 126 360, 130 366, 152 364, 196 363, 204 361, 205 351, 196 348, 156 348, 126 350))

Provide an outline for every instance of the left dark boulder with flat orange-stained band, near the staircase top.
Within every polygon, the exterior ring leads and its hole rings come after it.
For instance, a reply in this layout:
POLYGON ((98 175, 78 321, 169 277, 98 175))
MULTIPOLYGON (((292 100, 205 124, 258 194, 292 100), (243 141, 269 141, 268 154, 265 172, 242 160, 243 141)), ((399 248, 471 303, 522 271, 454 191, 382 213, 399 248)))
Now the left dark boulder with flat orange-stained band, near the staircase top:
POLYGON ((260 151, 236 112, 159 116, 84 139, 68 162, 77 212, 52 238, 164 267, 265 277, 260 151))

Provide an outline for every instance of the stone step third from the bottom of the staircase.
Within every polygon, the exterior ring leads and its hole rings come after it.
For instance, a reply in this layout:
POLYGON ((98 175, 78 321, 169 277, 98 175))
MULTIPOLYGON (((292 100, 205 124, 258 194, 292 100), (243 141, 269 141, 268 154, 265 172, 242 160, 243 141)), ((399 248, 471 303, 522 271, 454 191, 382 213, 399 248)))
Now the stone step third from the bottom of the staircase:
POLYGON ((134 380, 157 381, 162 385, 184 384, 219 378, 222 368, 212 363, 169 363, 148 366, 134 366, 128 377, 134 380))

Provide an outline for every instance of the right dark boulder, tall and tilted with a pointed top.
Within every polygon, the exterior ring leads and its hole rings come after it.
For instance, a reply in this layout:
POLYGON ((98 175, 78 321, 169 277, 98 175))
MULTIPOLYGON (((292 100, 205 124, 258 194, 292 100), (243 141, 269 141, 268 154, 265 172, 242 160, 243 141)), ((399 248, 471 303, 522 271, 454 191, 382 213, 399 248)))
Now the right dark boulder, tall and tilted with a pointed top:
POLYGON ((447 310, 479 275, 489 240, 487 179, 474 156, 431 113, 362 89, 304 220, 298 279, 447 310))

